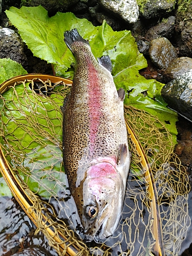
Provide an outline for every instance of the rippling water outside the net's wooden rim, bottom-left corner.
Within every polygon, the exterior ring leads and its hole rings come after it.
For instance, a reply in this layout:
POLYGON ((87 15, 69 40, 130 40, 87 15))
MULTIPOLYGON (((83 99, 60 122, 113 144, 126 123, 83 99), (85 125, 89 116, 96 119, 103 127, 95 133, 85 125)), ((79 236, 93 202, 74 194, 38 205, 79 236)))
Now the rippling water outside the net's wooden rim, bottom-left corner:
POLYGON ((16 200, 0 197, 0 255, 1 256, 57 256, 16 200))

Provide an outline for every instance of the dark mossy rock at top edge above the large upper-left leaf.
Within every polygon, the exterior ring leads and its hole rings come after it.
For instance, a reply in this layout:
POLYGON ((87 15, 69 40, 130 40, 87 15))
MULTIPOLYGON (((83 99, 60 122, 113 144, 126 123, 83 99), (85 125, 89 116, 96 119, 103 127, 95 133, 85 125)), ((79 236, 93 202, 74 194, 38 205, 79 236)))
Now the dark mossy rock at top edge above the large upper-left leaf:
POLYGON ((23 6, 44 7, 49 13, 54 14, 58 11, 67 10, 70 6, 75 5, 78 0, 23 0, 23 6))

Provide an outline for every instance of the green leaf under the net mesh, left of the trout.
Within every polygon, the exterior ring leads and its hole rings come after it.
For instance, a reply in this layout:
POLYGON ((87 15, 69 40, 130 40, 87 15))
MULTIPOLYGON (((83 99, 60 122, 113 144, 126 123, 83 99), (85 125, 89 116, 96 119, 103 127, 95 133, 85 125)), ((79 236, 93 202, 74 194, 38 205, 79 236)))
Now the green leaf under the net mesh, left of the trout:
MULTIPOLYGON (((33 92, 29 83, 19 84, 4 92, 0 100, 0 143, 5 153, 10 153, 7 160, 32 191, 46 198, 65 189, 67 181, 60 150, 60 106, 64 95, 59 92, 63 86, 54 90, 47 97, 33 92)), ((7 188, 2 184, 0 193, 7 195, 7 190, 4 191, 7 188)))

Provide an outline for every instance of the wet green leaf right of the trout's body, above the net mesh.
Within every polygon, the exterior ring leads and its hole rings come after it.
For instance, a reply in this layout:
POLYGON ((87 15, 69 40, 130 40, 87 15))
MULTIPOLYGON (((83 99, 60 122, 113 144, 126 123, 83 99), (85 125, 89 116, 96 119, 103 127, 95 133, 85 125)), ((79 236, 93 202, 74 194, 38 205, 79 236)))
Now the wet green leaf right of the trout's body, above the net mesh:
MULTIPOLYGON (((125 92, 124 104, 134 105, 137 109, 145 110, 158 116, 170 133, 174 144, 177 143, 176 121, 177 113, 168 109, 161 97, 164 84, 154 79, 147 80, 139 74, 135 67, 126 68, 114 77, 117 89, 123 88, 125 92)), ((158 125, 158 124, 157 124, 158 125)))

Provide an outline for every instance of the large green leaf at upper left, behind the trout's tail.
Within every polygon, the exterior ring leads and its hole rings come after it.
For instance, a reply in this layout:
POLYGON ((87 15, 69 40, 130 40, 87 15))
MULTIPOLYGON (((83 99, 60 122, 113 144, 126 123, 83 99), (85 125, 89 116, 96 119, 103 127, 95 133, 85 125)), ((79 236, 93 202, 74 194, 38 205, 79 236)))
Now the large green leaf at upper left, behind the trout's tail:
MULTIPOLYGON (((63 41, 63 32, 76 28, 83 37, 96 33, 95 28, 87 19, 78 19, 73 13, 60 13, 49 18, 48 12, 41 6, 25 7, 20 9, 11 7, 6 11, 12 24, 34 56, 52 63, 59 74, 63 74, 74 62, 74 57, 63 41), (73 24, 73 26, 71 26, 73 24)), ((58 73, 57 73, 58 75, 58 73)))

